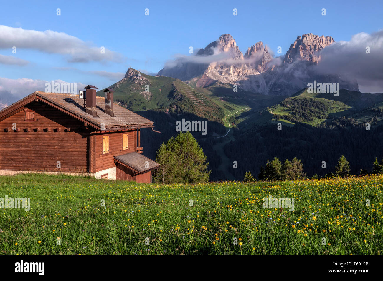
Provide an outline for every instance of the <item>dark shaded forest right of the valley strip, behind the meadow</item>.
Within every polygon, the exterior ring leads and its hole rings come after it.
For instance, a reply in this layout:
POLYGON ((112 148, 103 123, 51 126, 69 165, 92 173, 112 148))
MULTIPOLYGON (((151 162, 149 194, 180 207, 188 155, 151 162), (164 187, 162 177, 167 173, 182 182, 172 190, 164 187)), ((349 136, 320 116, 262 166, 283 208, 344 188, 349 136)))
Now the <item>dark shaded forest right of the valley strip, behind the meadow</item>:
POLYGON ((236 141, 225 146, 225 153, 238 161, 238 168, 232 169, 236 179, 242 179, 247 171, 258 175, 260 167, 274 157, 281 161, 301 159, 308 177, 334 172, 342 154, 350 162, 351 174, 358 174, 360 169, 372 171, 375 157, 383 157, 382 125, 366 130, 359 126, 329 129, 296 124, 277 130, 276 125, 270 124, 234 130, 234 134, 236 141), (326 169, 322 168, 322 161, 326 162, 326 169))

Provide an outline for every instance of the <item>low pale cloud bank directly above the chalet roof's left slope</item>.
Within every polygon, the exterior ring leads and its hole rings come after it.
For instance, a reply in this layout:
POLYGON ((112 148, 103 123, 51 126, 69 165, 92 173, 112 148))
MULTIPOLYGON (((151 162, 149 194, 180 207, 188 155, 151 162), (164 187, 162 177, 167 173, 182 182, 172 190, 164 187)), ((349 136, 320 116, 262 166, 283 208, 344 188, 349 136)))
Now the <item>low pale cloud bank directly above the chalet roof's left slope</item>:
MULTIPOLYGON (((54 82, 66 83, 62 80, 55 80, 54 82)), ((0 104, 4 107, 13 104, 13 102, 28 96, 34 91, 44 91, 45 83, 51 81, 33 80, 29 78, 9 79, 0 77, 0 104)), ((83 89, 86 84, 77 83, 77 90, 83 89)), ((0 105, 1 106, 1 105, 0 105)))

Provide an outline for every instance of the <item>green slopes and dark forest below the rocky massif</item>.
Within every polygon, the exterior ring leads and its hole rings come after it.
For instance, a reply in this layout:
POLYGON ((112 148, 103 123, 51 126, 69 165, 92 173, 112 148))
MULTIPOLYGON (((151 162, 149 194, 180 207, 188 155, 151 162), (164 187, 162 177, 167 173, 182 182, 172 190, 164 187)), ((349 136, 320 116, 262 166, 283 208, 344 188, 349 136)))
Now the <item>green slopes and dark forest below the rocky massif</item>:
MULTIPOLYGON (((193 132, 193 136, 207 156, 214 180, 240 180, 246 171, 257 175, 259 167, 274 156, 302 159, 308 175, 327 173, 316 165, 327 152, 329 166, 343 153, 354 172, 370 169, 370 162, 381 157, 369 147, 381 147, 383 126, 375 125, 383 125, 383 94, 340 90, 334 97, 302 89, 290 97, 265 96, 241 89, 234 92, 232 84, 219 81, 197 87, 195 81, 149 76, 132 68, 108 88, 115 91, 115 102, 153 120, 161 131, 146 130, 141 137, 144 155, 152 159, 161 143, 177 135, 177 121, 208 120, 208 133, 193 132), (373 134, 361 127, 366 122, 372 122, 373 134), (288 127, 277 131, 277 123, 288 127), (361 155, 368 157, 360 161, 361 155), (234 169, 232 163, 238 159, 241 165, 234 169)), ((103 90, 97 94, 103 96, 103 90)))

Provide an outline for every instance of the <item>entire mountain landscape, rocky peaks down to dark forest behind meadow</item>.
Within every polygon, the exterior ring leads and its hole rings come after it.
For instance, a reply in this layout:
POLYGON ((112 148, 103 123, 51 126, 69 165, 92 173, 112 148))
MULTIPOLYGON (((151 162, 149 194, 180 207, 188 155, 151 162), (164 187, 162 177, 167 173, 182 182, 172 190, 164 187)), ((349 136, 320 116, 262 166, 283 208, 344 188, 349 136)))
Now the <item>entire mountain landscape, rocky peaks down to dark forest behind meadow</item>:
MULTIPOLYGON (((177 121, 207 121, 206 134, 191 133, 210 162, 211 180, 242 180, 246 171, 257 175, 275 156, 296 156, 308 176, 324 176, 344 154, 357 174, 383 157, 383 93, 361 93, 357 81, 319 71, 321 50, 334 42, 303 34, 284 57, 274 57, 263 42, 242 54, 234 38, 223 34, 196 54, 167 63, 156 76, 129 68, 108 88, 115 102, 155 121, 161 133, 144 130, 141 138, 151 159, 178 134, 177 121), (314 81, 339 85, 338 95, 308 91, 314 81)), ((103 96, 103 89, 97 94, 103 96)))

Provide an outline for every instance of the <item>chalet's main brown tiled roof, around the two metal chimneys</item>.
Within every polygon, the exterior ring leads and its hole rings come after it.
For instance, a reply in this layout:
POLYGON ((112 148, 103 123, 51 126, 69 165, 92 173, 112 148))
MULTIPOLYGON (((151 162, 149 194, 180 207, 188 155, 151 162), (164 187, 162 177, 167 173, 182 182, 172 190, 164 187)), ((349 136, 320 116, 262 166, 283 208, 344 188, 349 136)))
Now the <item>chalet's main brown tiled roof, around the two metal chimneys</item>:
POLYGON ((54 104, 55 106, 60 107, 64 112, 74 114, 77 119, 83 119, 89 123, 93 123, 97 127, 104 124, 105 129, 114 129, 114 128, 129 128, 129 127, 151 127, 153 122, 149 119, 142 117, 118 104, 113 104, 113 112, 115 117, 111 117, 109 114, 105 113, 105 98, 97 97, 97 115, 98 117, 93 117, 93 115, 85 112, 84 100, 80 99, 77 95, 72 94, 56 94, 56 93, 46 93, 36 91, 28 97, 17 101, 10 106, 0 110, 0 113, 4 110, 7 110, 10 107, 15 106, 16 104, 24 101, 25 99, 36 95, 46 101, 47 103, 54 104))

